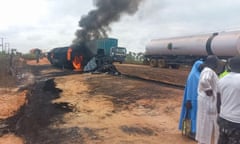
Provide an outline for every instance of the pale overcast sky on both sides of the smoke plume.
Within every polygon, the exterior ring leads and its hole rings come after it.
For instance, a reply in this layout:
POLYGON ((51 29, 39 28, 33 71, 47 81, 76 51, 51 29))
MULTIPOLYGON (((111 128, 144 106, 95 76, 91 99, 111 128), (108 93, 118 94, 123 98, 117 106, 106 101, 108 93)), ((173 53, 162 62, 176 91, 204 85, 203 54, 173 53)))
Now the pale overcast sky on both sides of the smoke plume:
MULTIPOLYGON (((67 46, 91 0, 0 0, 0 38, 27 53, 67 46)), ((109 37, 144 52, 151 39, 240 29, 240 0, 145 0, 133 16, 111 24, 109 37)), ((0 41, 1 43, 1 41, 0 41)))

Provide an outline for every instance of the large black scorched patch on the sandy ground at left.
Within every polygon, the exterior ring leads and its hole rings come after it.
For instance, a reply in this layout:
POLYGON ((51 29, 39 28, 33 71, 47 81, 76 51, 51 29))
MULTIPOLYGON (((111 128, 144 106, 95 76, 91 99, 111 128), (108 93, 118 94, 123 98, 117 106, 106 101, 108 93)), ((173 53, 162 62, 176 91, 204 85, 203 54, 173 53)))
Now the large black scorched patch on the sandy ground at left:
MULTIPOLYGON (((28 94, 28 103, 24 111, 17 119, 15 133, 23 136, 27 144, 35 143, 65 143, 63 136, 79 137, 78 142, 82 142, 81 135, 77 128, 51 128, 50 123, 54 117, 61 121, 62 115, 72 111, 68 103, 53 103, 52 101, 60 97, 61 89, 56 88, 54 79, 39 81, 32 86, 28 94), (51 133, 51 136, 49 134, 51 133), (56 135, 58 139, 54 137, 56 135), (62 137, 61 137, 62 136, 62 137)), ((71 141, 71 138, 68 138, 71 141)), ((76 143, 74 138, 74 143, 76 143)))

